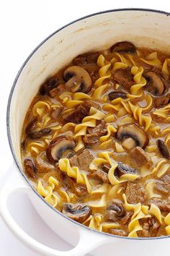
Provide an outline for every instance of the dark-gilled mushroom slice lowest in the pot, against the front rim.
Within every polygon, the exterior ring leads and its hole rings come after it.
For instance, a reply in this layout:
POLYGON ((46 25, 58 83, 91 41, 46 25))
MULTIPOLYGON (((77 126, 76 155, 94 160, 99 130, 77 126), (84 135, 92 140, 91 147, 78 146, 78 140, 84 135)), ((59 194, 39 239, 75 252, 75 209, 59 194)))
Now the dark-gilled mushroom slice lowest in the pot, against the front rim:
POLYGON ((91 208, 89 208, 88 205, 74 206, 69 203, 65 203, 63 204, 62 212, 69 218, 72 218, 74 221, 78 221, 79 223, 82 223, 86 221, 86 219, 91 215, 92 210, 91 208))

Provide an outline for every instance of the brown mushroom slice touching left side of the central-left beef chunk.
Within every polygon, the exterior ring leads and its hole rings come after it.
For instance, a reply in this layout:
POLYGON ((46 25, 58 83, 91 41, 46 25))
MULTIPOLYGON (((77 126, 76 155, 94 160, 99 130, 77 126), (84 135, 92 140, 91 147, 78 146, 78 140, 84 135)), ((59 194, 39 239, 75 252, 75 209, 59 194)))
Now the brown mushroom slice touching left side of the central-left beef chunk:
POLYGON ((76 143, 71 137, 59 136, 48 145, 46 154, 51 163, 56 163, 60 158, 70 156, 76 143))

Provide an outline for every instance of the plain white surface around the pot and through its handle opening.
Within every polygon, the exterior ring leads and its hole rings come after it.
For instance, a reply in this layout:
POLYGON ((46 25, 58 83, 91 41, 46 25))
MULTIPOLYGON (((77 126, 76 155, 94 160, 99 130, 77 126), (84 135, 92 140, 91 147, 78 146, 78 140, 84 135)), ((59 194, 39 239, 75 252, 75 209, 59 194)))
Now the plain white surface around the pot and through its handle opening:
MULTIPOLYGON (((24 59, 50 33, 68 22, 86 14, 107 9, 141 7, 161 9, 170 12, 170 4, 161 1, 136 0, 27 0, 1 1, 1 72, 0 72, 0 124, 1 124, 1 166, 0 187, 9 176, 12 155, 6 137, 6 104, 14 77, 24 59)), ((40 219, 26 195, 14 195, 9 201, 12 216, 22 229, 44 244, 58 249, 70 249, 71 246, 51 231, 40 219), (36 226, 36 229, 35 229, 36 226)), ((0 217, 0 255, 3 256, 36 256, 6 228, 0 217)), ((162 255, 164 252, 162 252, 162 255)), ((146 255, 147 256, 147 255, 146 255)))

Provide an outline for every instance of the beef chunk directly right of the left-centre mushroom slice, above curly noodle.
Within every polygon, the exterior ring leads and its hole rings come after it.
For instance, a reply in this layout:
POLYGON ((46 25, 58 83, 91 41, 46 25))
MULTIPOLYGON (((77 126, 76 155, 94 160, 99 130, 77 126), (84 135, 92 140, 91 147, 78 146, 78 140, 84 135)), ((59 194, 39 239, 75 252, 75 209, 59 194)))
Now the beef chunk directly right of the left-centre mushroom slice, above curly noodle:
POLYGON ((83 150, 76 155, 73 155, 69 160, 71 166, 78 166, 81 170, 87 171, 89 164, 94 159, 94 156, 89 153, 89 150, 83 150))

